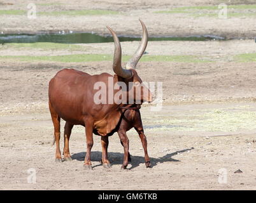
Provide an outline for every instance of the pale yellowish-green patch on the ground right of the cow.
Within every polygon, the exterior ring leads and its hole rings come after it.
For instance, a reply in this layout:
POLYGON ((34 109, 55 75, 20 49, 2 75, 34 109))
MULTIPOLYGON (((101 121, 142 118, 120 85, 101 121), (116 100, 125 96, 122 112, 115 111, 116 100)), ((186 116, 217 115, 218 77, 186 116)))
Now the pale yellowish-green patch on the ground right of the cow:
MULTIPOLYGON (((203 114, 184 115, 183 117, 163 117, 153 121, 155 124, 164 123, 162 130, 166 131, 222 131, 235 132, 256 129, 256 112, 245 109, 215 109, 203 114)), ((153 130, 160 130, 154 128, 153 130)))

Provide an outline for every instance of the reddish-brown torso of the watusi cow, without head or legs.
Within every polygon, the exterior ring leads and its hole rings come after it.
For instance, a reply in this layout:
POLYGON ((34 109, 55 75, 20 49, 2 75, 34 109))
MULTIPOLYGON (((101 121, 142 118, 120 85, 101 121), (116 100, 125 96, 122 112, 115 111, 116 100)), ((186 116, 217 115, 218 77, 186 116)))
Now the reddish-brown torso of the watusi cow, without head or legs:
POLYGON ((89 75, 74 69, 60 70, 49 83, 49 101, 55 112, 71 124, 85 126, 87 119, 92 119, 94 131, 106 136, 116 128, 122 115, 117 104, 96 104, 95 82, 104 82, 108 89, 108 77, 114 82, 118 77, 103 73, 89 75))

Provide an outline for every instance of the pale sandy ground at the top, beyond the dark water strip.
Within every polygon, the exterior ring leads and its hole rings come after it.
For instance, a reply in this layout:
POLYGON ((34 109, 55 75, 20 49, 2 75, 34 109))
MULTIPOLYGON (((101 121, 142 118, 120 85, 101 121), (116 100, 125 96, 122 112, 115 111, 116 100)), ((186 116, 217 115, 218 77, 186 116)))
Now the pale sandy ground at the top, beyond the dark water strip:
MULTIPOLYGON (((3 10, 27 10, 31 1, 1 1, 3 10)), ((150 36, 195 36, 215 35, 227 38, 252 38, 256 30, 255 16, 234 16, 227 19, 197 16, 201 11, 189 13, 155 13, 157 11, 172 10, 182 6, 211 6, 220 3, 231 4, 230 1, 219 0, 186 0, 186 1, 34 1, 36 11, 68 11, 68 10, 113 10, 120 12, 117 15, 94 15, 94 16, 52 16, 37 15, 36 19, 28 19, 27 15, 1 15, 0 32, 58 32, 59 30, 73 30, 83 32, 96 32, 109 34, 106 25, 113 27, 117 34, 139 36, 140 25, 138 19, 144 20, 150 36), (125 22, 125 23, 119 23, 125 22)), ((255 1, 232 1, 232 4, 253 4, 255 1)), ((230 9, 228 13, 236 10, 230 9)), ((255 10, 246 10, 248 13, 255 10)), ((203 14, 207 15, 204 10, 203 14)))

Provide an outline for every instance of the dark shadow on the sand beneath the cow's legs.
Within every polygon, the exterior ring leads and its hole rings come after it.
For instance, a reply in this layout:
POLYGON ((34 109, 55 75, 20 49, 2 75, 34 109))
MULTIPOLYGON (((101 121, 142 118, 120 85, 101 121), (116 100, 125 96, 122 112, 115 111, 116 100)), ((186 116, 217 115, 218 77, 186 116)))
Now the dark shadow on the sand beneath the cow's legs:
MULTIPOLYGON (((192 150, 192 149, 194 149, 194 148, 193 147, 192 148, 186 148, 184 150, 180 150, 180 151, 176 151, 176 152, 173 152, 173 153, 166 154, 166 155, 164 155, 162 157, 159 157, 159 158, 150 157, 151 167, 156 166, 157 164, 163 163, 163 162, 172 162, 172 161, 178 162, 180 160, 172 158, 174 155, 177 155, 178 153, 182 153, 182 152, 187 152, 187 151, 192 150)), ((96 166, 93 166, 93 167, 97 167, 97 166, 102 165, 100 163, 101 154, 102 154, 102 152, 99 152, 99 151, 91 152, 91 160, 99 162, 99 164, 97 164, 96 166)), ((75 159, 75 160, 79 160, 79 161, 84 161, 85 160, 85 155, 86 155, 86 152, 79 152, 79 153, 71 155, 71 158, 75 159)), ((123 160, 124 160, 124 154, 119 153, 119 152, 108 152, 108 159, 110 160, 111 165, 118 164, 118 165, 121 166, 122 163, 123 163, 123 160)), ((131 160, 132 161, 129 162, 129 164, 131 164, 131 167, 129 167, 127 169, 133 169, 134 167, 139 166, 139 164, 145 163, 145 159, 144 159, 143 156, 132 156, 131 155, 131 160)))

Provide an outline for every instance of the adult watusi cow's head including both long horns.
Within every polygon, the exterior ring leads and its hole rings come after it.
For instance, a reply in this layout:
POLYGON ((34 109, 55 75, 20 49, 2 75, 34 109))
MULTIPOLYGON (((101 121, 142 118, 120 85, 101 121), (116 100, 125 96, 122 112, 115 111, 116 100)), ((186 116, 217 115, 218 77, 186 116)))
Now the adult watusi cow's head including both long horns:
POLYGON ((132 58, 127 62, 125 69, 122 68, 122 49, 117 37, 117 34, 107 26, 110 30, 114 43, 115 43, 115 53, 113 59, 113 70, 115 74, 122 78, 127 84, 127 96, 129 97, 129 103, 131 103, 131 98, 134 103, 143 103, 144 101, 152 102, 153 96, 150 90, 143 84, 141 78, 139 77, 138 73, 136 72, 136 65, 139 62, 139 59, 143 55, 146 45, 148 44, 148 31, 146 30, 145 24, 141 22, 143 28, 143 36, 141 39, 141 44, 139 45, 136 53, 132 56, 132 58))

